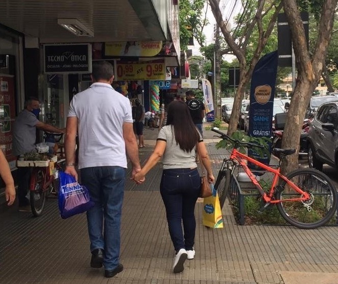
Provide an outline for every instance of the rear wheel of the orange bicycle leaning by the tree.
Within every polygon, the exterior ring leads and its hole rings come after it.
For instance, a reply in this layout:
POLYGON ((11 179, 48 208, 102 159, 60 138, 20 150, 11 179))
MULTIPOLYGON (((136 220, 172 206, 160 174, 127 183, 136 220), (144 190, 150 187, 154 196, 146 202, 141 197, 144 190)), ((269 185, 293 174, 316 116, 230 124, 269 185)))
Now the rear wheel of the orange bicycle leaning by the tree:
POLYGON ((330 179, 316 169, 297 169, 287 175, 295 185, 311 195, 308 201, 285 201, 299 198, 301 194, 285 181, 276 192, 277 208, 280 215, 290 224, 300 229, 315 229, 327 223, 333 216, 337 200, 336 190, 330 179))

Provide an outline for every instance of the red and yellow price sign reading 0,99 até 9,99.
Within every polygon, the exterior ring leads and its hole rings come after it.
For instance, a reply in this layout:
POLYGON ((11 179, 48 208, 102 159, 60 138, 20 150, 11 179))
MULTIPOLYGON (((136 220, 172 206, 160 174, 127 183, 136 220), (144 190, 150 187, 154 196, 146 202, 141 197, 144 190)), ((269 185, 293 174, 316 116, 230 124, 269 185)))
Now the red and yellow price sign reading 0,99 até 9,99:
POLYGON ((117 80, 164 80, 164 61, 126 62, 116 64, 117 80))

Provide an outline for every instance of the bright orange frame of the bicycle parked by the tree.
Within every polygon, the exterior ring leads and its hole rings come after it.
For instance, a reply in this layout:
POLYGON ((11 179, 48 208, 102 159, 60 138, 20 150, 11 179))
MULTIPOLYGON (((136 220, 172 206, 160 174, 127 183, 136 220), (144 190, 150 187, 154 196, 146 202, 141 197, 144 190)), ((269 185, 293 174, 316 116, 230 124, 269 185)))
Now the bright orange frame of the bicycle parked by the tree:
POLYGON ((251 182, 256 186, 256 188, 258 189, 258 191, 262 195, 263 200, 266 203, 275 204, 275 203, 281 203, 281 202, 286 202, 286 201, 306 201, 306 200, 310 199, 310 195, 307 192, 301 190, 293 182, 291 182, 285 176, 283 176, 282 174, 280 174, 279 167, 276 168, 276 169, 271 168, 269 165, 265 165, 265 164, 263 164, 263 163, 261 163, 259 161, 256 161, 253 158, 250 158, 250 157, 246 156, 245 154, 240 153, 239 151, 237 151, 236 148, 233 148, 233 150, 231 152, 231 155, 230 155, 230 160, 237 161, 241 165, 241 167, 244 169, 244 172, 248 175, 248 177, 251 180, 251 182), (247 166, 247 164, 245 163, 245 161, 248 161, 248 162, 250 162, 252 164, 255 164, 255 165, 259 166, 260 168, 263 168, 265 171, 274 174, 273 180, 272 180, 272 184, 271 184, 271 188, 270 188, 268 194, 263 190, 262 186, 259 184, 259 182, 257 181, 255 175, 253 175, 253 173, 251 172, 251 170, 249 169, 249 167, 247 166), (278 182, 279 179, 284 180, 296 192, 298 192, 299 194, 301 194, 302 197, 284 199, 283 201, 282 200, 272 200, 273 193, 275 191, 275 186, 276 186, 276 184, 277 184, 277 182, 278 182))

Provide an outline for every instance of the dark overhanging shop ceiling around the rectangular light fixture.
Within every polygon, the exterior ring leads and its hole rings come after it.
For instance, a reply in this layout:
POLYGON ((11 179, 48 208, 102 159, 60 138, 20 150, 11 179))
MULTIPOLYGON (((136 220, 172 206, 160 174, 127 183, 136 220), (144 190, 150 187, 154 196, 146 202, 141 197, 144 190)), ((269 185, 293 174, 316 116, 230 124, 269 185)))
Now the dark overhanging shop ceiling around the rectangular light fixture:
POLYGON ((165 40, 150 3, 150 0, 0 0, 0 23, 25 36, 39 38, 40 43, 165 40), (71 34, 58 24, 60 18, 77 19, 94 32, 94 37, 71 34))

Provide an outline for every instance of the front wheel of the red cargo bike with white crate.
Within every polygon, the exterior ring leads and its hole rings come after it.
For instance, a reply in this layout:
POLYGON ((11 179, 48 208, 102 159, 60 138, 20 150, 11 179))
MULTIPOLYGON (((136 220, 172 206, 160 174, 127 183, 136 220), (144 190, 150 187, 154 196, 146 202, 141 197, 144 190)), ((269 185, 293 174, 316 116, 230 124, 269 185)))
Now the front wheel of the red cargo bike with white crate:
POLYGON ((42 213, 43 206, 46 200, 46 191, 43 190, 44 173, 42 169, 38 169, 34 179, 34 190, 31 190, 31 208, 34 216, 39 216, 42 213))

